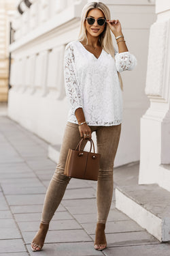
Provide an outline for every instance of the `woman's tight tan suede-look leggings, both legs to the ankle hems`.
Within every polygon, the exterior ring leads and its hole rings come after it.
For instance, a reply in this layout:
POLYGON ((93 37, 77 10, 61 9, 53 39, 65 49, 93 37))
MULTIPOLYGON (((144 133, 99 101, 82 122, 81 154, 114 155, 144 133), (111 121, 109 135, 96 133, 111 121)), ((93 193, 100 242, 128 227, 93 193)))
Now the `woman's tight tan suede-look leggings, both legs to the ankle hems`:
MULTIPOLYGON (((90 126, 97 136, 97 152, 101 154, 99 177, 97 181, 97 222, 106 223, 113 195, 114 158, 120 139, 121 124, 116 126, 90 126)), ((60 157, 54 175, 46 191, 41 223, 50 223, 54 212, 63 198, 70 177, 64 175, 65 162, 69 148, 73 149, 80 141, 78 124, 67 122, 60 157)), ((82 142, 84 149, 87 140, 82 142)))

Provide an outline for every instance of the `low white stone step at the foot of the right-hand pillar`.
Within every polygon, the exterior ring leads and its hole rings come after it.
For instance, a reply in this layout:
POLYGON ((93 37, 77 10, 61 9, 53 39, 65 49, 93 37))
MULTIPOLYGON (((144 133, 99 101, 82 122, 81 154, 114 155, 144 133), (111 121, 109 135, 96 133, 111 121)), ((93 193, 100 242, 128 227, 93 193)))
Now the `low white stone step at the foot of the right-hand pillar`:
POLYGON ((116 208, 160 242, 170 240, 170 197, 164 188, 157 184, 118 186, 116 208))

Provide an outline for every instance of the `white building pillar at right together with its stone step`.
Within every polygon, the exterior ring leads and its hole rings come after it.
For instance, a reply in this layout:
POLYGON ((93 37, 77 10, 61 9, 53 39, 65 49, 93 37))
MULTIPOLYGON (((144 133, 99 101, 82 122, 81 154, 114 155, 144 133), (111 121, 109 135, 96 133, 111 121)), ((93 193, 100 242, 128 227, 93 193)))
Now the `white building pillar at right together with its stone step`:
POLYGON ((116 207, 161 242, 170 241, 170 2, 156 0, 140 120, 138 184, 116 190, 116 207))

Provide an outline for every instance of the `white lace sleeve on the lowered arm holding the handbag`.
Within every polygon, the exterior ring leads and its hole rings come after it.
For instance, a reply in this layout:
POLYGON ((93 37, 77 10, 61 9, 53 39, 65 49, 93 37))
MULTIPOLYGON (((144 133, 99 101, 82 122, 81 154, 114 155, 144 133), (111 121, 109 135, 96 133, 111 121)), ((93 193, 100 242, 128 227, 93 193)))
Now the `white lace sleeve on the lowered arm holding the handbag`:
POLYGON ((82 108, 82 94, 75 70, 73 47, 71 44, 65 46, 64 55, 64 76, 65 92, 73 114, 78 108, 82 108))

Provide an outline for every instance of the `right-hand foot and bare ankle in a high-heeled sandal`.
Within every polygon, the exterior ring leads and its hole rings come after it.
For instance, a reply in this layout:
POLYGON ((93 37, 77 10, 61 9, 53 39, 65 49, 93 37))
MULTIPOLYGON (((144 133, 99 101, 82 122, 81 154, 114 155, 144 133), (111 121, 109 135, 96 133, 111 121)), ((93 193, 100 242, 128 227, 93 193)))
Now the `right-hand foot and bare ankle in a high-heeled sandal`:
POLYGON ((94 248, 95 250, 101 251, 106 247, 107 242, 105 238, 105 223, 97 223, 94 248))

